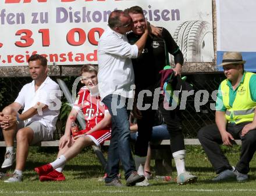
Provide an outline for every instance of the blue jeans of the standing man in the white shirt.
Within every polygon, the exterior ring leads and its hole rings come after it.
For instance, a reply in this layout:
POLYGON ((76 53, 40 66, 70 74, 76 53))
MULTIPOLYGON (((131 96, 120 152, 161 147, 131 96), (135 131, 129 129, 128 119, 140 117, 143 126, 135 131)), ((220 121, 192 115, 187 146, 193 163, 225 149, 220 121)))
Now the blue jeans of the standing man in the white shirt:
POLYGON ((108 107, 112 117, 111 143, 108 149, 106 165, 106 183, 118 179, 119 161, 125 170, 125 179, 136 171, 130 148, 130 111, 127 110, 127 99, 119 95, 108 95, 102 102, 108 107), (120 106, 120 107, 118 107, 120 106))

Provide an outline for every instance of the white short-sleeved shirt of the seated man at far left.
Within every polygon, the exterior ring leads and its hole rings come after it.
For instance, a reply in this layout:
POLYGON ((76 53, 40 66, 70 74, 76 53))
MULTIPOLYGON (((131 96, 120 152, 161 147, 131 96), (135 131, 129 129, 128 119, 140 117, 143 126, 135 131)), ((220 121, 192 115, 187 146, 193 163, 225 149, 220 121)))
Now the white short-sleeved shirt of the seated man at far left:
POLYGON ((25 126, 29 122, 39 121, 53 134, 61 107, 60 92, 59 85, 49 77, 45 79, 36 92, 34 81, 24 85, 15 100, 15 102, 22 105, 23 112, 35 106, 37 102, 48 106, 47 109, 39 111, 38 114, 24 121, 25 126))

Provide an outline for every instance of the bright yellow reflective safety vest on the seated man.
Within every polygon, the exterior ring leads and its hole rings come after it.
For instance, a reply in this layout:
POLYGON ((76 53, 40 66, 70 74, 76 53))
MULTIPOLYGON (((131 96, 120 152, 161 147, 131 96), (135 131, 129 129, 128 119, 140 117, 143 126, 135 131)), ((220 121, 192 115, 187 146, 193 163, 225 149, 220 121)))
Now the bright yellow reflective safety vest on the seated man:
POLYGON ((241 122, 253 121, 256 102, 251 99, 250 92, 250 78, 253 75, 251 72, 246 72, 244 82, 239 85, 233 106, 229 106, 229 86, 227 79, 221 83, 221 91, 223 97, 223 104, 226 107, 226 119, 228 122, 241 122))

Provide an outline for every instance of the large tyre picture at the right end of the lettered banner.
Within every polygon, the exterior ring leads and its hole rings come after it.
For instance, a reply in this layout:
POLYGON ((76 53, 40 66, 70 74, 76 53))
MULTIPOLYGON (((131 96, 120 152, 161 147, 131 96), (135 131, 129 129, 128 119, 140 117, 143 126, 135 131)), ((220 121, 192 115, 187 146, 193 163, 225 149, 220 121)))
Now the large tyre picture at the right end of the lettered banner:
POLYGON ((185 21, 176 28, 173 36, 182 50, 184 61, 187 62, 214 61, 214 56, 212 56, 214 40, 212 38, 211 24, 202 20, 185 21))

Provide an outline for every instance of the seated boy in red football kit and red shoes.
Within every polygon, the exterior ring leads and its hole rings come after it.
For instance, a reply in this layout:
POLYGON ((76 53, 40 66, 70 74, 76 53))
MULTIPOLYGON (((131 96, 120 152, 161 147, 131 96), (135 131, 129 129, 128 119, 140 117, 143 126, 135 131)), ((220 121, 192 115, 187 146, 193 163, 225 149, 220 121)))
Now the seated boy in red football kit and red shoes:
POLYGON ((86 146, 100 145, 111 137, 111 115, 108 108, 101 102, 97 90, 97 67, 86 64, 81 68, 81 83, 76 103, 70 111, 66 122, 65 134, 59 141, 58 158, 49 164, 35 168, 40 181, 63 181, 62 170, 67 161, 75 157, 86 146), (72 119, 76 118, 79 110, 83 111, 86 129, 80 130, 79 135, 72 136, 70 128, 72 119))

